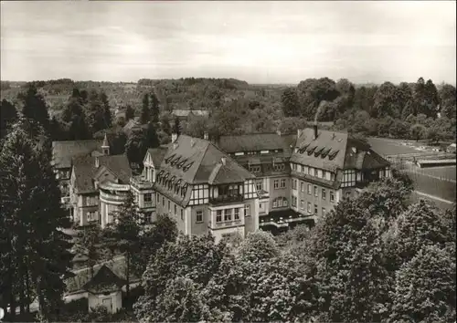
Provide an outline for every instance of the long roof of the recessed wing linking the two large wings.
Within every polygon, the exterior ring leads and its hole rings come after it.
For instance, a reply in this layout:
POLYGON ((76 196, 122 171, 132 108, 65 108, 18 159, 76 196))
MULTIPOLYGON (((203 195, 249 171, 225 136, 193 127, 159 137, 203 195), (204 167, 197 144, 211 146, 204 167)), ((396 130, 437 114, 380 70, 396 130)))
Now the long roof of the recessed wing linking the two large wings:
POLYGON ((252 133, 239 136, 220 136, 218 147, 228 153, 240 151, 274 151, 292 152, 294 135, 280 136, 272 133, 252 133))

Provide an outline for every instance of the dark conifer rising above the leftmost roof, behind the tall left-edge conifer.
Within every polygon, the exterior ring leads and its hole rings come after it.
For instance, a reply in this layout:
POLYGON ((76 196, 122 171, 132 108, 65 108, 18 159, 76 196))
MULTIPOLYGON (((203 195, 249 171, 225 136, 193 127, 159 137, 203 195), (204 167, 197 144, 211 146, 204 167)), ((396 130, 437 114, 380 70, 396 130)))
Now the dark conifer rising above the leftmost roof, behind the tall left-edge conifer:
POLYGON ((22 115, 31 122, 32 135, 38 135, 38 129, 42 127, 46 133, 49 130, 48 105, 37 88, 33 84, 27 86, 25 93, 19 93, 18 98, 22 102, 22 115))

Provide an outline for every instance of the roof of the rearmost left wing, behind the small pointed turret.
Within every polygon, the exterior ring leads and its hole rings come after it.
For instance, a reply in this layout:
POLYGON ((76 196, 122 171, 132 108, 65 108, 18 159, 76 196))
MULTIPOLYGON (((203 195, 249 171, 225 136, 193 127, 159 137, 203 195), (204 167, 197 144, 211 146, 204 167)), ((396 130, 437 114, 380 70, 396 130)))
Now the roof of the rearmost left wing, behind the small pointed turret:
POLYGON ((52 164, 56 168, 69 168, 72 158, 99 150, 102 142, 102 140, 53 141, 52 164))

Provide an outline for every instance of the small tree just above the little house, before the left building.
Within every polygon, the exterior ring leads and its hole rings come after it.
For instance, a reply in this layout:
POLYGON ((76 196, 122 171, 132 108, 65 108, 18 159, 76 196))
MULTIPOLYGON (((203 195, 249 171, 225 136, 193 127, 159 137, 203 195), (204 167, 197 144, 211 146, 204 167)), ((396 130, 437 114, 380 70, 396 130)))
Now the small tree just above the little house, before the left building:
POLYGON ((86 258, 85 263, 90 268, 90 277, 93 278, 93 267, 101 259, 101 230, 99 225, 90 224, 80 229, 75 243, 75 252, 86 258))

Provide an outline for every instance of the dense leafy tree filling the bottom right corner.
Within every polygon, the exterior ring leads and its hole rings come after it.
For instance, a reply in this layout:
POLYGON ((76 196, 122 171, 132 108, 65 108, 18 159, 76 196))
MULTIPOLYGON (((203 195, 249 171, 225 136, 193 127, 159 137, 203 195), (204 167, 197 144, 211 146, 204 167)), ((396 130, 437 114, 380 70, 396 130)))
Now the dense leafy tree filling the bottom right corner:
POLYGON ((396 275, 392 322, 455 321, 455 245, 452 249, 424 245, 401 266, 396 275))

